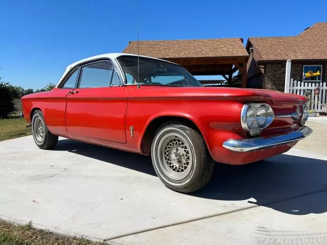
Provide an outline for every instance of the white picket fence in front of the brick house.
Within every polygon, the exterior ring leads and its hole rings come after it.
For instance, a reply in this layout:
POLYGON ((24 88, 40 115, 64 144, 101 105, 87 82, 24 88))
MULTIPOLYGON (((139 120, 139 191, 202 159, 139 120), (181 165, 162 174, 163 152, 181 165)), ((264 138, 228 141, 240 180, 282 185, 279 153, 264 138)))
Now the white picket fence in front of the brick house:
POLYGON ((300 82, 293 80, 290 81, 289 87, 286 89, 289 93, 306 95, 310 94, 310 101, 308 103, 309 109, 314 111, 324 111, 324 103, 327 103, 327 86, 324 83, 315 82, 300 82), (315 89, 319 88, 319 94, 315 94, 315 89))

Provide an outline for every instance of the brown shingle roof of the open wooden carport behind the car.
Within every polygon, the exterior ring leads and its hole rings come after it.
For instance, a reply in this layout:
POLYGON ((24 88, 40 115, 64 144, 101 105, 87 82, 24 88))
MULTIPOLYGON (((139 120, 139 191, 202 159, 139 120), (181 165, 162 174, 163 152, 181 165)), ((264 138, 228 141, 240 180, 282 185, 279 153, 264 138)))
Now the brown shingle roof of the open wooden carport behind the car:
MULTIPOLYGON (((137 54, 137 41, 123 52, 137 54)), ((164 59, 248 56, 240 38, 139 41, 139 54, 164 59)))

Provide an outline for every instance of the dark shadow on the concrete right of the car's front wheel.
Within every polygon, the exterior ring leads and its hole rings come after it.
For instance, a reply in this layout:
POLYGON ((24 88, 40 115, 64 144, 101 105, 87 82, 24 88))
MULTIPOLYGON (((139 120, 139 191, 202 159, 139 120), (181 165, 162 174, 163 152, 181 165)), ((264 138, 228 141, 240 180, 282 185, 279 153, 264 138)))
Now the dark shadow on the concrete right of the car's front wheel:
POLYGON ((323 213, 326 175, 327 161, 282 154, 241 166, 217 164, 206 188, 191 195, 227 201, 253 198, 248 203, 296 215, 323 213))

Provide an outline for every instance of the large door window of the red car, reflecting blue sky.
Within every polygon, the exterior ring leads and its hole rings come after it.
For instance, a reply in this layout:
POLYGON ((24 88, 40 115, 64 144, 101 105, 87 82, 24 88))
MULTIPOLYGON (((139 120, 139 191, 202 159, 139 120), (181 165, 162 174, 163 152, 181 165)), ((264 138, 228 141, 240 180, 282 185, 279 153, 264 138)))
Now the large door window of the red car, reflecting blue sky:
POLYGON ((89 64, 82 67, 79 88, 109 87, 113 65, 110 61, 89 64))

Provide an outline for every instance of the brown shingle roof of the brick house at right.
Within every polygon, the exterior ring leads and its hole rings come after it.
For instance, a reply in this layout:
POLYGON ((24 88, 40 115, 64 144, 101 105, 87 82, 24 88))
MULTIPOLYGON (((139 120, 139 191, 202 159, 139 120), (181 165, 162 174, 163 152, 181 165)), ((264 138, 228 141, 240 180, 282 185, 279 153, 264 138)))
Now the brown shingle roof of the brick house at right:
POLYGON ((250 37, 258 63, 273 60, 327 59, 327 22, 319 22, 294 37, 250 37))

